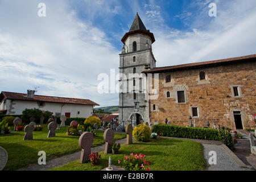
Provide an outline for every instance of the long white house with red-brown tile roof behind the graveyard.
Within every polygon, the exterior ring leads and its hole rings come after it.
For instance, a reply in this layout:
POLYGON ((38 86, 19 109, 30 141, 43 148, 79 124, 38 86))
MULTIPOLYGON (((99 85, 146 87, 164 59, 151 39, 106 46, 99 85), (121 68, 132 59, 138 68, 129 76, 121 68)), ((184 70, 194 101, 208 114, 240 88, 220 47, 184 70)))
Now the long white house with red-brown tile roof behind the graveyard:
POLYGON ((0 112, 6 114, 22 114, 24 109, 40 109, 51 111, 53 115, 66 117, 87 118, 93 114, 93 106, 97 103, 88 99, 65 98, 35 95, 34 90, 27 90, 27 94, 1 92, 0 112))

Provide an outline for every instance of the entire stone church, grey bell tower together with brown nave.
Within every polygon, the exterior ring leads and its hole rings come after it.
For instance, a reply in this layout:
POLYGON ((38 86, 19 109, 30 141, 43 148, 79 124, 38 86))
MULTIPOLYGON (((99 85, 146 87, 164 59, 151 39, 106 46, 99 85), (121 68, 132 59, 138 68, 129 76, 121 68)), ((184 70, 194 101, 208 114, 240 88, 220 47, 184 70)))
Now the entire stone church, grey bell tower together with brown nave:
POLYGON ((119 121, 255 129, 256 55, 156 67, 154 34, 139 15, 121 40, 119 121), (138 74, 139 76, 137 76, 138 74), (130 76, 131 75, 131 76, 130 76), (133 76, 134 75, 134 76, 133 76), (152 95, 157 97, 152 97, 152 95))

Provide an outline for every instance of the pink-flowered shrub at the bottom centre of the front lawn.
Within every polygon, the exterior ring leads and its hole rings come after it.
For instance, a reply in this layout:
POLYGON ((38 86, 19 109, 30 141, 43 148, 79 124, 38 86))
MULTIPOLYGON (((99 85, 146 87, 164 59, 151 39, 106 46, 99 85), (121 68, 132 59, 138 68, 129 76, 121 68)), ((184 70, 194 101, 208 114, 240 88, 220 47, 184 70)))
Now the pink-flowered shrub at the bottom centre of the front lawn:
POLYGON ((131 153, 129 156, 124 156, 123 160, 118 160, 118 164, 121 163, 122 168, 125 168, 126 171, 149 171, 150 168, 147 166, 150 165, 150 162, 145 158, 146 155, 131 153))

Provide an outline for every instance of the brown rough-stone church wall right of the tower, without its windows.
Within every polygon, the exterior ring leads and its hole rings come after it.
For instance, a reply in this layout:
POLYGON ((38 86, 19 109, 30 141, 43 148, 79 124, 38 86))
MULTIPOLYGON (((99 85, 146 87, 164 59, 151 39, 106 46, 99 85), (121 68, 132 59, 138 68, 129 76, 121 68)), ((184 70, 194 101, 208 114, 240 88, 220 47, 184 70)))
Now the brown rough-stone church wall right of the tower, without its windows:
POLYGON ((241 111, 243 129, 255 129, 252 114, 256 113, 256 64, 250 63, 221 65, 218 67, 188 69, 170 73, 159 73, 159 97, 151 100, 151 122, 189 126, 192 107, 198 107, 198 117, 193 117, 196 127, 204 127, 207 121, 236 129, 233 111, 241 111), (205 80, 199 73, 205 72, 205 80), (165 77, 171 75, 171 82, 165 77), (233 86, 238 86, 240 96, 234 97, 233 86), (184 90, 185 103, 177 103, 177 91, 184 90), (170 92, 170 98, 167 98, 170 92), (152 110, 153 105, 156 109, 152 110))

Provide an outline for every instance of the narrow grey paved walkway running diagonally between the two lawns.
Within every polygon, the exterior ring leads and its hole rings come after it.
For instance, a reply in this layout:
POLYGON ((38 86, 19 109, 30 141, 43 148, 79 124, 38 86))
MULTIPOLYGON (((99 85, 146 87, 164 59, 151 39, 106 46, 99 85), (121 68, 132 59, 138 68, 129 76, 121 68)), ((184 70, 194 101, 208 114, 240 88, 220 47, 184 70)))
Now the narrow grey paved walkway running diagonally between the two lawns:
MULTIPOLYGON (((126 138, 123 138, 121 140, 116 140, 116 142, 122 144, 126 142, 126 138)), ((105 150, 105 144, 102 144, 101 146, 93 147, 92 152, 100 152, 105 150)), ((73 154, 64 155, 60 158, 52 159, 49 161, 46 161, 46 165, 39 165, 39 164, 32 164, 31 166, 28 166, 26 168, 18 169, 18 171, 46 171, 48 169, 52 169, 55 167, 63 166, 64 164, 73 162, 75 160, 80 159, 81 151, 75 152, 73 154)))

